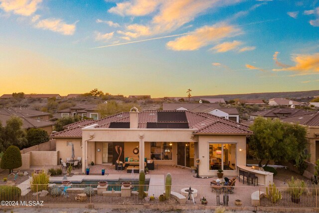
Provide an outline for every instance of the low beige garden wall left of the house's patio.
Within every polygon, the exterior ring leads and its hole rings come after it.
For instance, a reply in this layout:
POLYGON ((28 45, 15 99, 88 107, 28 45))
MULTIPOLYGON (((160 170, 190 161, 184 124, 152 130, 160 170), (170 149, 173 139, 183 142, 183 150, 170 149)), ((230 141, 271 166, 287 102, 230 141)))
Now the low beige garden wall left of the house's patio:
POLYGON ((59 151, 37 151, 31 152, 30 165, 46 166, 59 164, 59 151))

